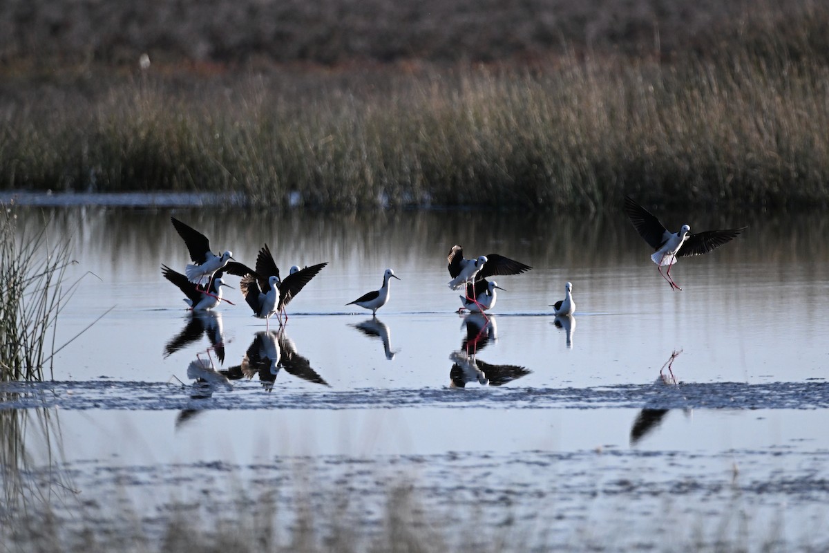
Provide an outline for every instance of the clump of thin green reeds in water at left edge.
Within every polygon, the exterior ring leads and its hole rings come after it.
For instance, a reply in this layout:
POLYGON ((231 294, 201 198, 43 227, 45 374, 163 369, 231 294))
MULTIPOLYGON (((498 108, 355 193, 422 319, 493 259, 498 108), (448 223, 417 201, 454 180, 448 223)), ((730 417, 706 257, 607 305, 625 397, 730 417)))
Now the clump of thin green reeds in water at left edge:
POLYGON ((12 206, 0 204, 0 381, 52 377, 57 316, 75 284, 64 289, 68 241, 51 244, 48 221, 17 235, 12 206), (47 365, 48 364, 48 365, 47 365))

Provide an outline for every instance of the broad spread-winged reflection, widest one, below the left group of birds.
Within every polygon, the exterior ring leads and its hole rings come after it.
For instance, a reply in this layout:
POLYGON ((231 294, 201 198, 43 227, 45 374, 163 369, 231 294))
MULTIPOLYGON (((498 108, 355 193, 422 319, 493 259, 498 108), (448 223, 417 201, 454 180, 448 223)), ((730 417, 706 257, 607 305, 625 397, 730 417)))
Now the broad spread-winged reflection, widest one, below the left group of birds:
POLYGON ((230 380, 251 380, 259 376, 264 389, 271 391, 281 369, 304 381, 328 386, 322 376, 313 370, 308 358, 297 353, 296 345, 285 334, 284 327, 279 331, 256 332, 241 365, 231 366, 222 372, 230 380))

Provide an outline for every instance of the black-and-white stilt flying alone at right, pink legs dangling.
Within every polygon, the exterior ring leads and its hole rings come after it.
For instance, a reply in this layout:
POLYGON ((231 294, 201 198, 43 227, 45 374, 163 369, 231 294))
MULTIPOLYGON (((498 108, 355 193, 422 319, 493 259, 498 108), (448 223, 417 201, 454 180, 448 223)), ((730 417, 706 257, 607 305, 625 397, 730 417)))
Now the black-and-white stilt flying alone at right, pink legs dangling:
POLYGON ((671 278, 671 265, 676 263, 677 257, 707 254, 711 250, 724 245, 749 228, 705 230, 696 234, 691 233, 691 227, 683 225, 679 232, 670 232, 656 216, 640 206, 630 196, 625 196, 624 211, 633 222, 633 227, 640 236, 654 249, 651 259, 657 264, 657 270, 663 279, 671 284, 671 289, 681 290, 671 278), (662 274, 662 266, 667 265, 666 274, 662 274))

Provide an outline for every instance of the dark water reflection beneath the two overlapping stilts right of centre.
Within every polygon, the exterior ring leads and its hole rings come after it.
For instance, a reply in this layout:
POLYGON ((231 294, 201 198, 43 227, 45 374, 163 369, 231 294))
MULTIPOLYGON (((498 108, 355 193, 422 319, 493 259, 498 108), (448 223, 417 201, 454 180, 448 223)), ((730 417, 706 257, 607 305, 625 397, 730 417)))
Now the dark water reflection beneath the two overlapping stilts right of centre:
POLYGON ((475 381, 482 386, 502 386, 530 374, 531 371, 523 366, 492 365, 478 359, 478 352, 497 339, 494 315, 486 318, 481 313, 470 313, 464 318, 464 326, 466 336, 461 342, 461 349, 449 355, 453 361, 449 370, 450 388, 463 388, 475 381))

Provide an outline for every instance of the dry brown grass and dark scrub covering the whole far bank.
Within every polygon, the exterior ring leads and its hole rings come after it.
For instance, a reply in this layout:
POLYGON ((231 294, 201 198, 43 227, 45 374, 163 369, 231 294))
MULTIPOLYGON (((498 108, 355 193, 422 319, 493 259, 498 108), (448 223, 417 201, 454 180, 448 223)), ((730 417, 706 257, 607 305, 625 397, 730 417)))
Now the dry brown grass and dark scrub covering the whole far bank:
POLYGON ((11 0, 0 187, 825 206, 826 28, 808 0, 11 0))

